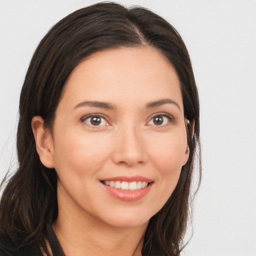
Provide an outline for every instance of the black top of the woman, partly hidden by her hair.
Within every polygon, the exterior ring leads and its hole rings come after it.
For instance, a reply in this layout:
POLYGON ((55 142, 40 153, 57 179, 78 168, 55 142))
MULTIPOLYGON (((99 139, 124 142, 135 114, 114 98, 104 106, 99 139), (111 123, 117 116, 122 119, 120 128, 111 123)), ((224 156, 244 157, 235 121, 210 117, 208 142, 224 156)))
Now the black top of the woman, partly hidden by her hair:
MULTIPOLYGON (((47 239, 53 256, 65 256, 58 239, 52 229, 52 225, 46 227, 47 239)), ((0 248, 0 256, 42 256, 40 248, 35 248, 33 245, 26 245, 13 252, 9 249, 0 248)))

